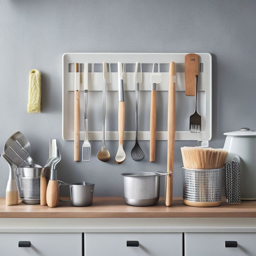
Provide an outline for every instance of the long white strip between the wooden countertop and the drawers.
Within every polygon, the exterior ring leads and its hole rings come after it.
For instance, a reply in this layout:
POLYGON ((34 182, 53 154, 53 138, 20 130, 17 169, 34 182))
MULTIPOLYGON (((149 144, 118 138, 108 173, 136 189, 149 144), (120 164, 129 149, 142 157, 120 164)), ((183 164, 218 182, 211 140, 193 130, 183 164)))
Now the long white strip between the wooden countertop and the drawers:
POLYGON ((0 233, 256 232, 256 218, 1 218, 0 233))

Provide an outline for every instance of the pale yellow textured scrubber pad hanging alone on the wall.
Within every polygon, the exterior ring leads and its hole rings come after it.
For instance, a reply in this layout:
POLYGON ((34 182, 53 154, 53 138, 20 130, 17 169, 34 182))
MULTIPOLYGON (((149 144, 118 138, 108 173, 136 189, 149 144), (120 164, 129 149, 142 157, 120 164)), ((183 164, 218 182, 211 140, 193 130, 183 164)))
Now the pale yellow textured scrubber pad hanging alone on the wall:
POLYGON ((41 112, 41 73, 33 69, 29 73, 28 113, 41 112))

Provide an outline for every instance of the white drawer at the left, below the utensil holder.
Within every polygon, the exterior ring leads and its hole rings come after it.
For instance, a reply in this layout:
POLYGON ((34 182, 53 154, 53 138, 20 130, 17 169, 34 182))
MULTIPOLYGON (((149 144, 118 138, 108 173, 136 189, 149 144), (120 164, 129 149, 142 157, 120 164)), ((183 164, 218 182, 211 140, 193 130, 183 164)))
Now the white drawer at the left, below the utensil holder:
POLYGON ((0 255, 82 255, 82 233, 1 233, 0 255), (30 247, 19 247, 20 241, 30 247))

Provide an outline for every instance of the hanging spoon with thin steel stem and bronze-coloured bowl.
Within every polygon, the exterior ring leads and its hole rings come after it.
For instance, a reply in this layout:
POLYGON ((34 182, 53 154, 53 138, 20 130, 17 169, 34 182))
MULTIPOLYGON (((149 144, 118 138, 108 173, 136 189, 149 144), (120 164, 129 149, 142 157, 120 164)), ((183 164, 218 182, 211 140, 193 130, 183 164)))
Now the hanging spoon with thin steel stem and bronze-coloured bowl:
MULTIPOLYGON (((103 62, 103 89, 102 89, 102 146, 97 154, 97 158, 102 162, 107 162, 110 159, 109 151, 105 145, 106 136, 106 91, 107 84, 111 83, 111 76, 107 76, 107 63, 103 62)), ((110 64, 109 64, 110 73, 110 64)))

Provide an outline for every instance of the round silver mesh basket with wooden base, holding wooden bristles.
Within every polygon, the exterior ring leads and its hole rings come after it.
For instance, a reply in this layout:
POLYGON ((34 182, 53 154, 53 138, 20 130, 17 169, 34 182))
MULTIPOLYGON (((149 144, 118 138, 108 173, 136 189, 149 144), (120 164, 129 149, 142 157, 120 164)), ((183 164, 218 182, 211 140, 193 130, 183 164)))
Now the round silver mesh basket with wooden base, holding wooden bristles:
POLYGON ((187 169, 183 175, 183 202, 190 206, 217 206, 221 203, 220 169, 187 169))

